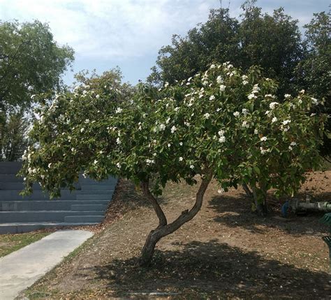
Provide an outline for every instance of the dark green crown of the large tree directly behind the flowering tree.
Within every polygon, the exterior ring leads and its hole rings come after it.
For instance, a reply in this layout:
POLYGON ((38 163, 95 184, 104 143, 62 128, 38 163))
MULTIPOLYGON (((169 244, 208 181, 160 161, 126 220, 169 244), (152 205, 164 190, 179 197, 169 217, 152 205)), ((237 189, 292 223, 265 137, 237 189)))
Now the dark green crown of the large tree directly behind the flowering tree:
POLYGON ((211 10, 205 24, 184 38, 173 36, 172 45, 159 50, 149 82, 174 84, 205 71, 213 61, 233 61, 244 71, 253 65, 262 67, 263 75, 279 82, 279 95, 293 91, 293 70, 302 56, 297 21, 283 8, 263 14, 254 3, 244 3, 242 20, 230 17, 227 9, 211 10))

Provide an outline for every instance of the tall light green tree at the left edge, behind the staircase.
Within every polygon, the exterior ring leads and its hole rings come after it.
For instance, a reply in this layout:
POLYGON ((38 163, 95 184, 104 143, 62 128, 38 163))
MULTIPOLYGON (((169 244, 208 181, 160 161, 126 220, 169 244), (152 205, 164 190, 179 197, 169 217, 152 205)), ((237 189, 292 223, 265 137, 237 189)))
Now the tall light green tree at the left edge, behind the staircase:
MULTIPOLYGON (((16 112, 24 116, 36 95, 59 91, 63 85, 61 75, 72 62, 73 50, 57 45, 47 24, 0 22, 1 153, 12 147, 6 144, 4 131, 12 127, 16 112)), ((26 121, 22 121, 21 126, 23 124, 26 121)), ((23 141, 23 136, 19 140, 23 141)), ((17 155, 2 156, 0 160, 17 158, 17 155)))

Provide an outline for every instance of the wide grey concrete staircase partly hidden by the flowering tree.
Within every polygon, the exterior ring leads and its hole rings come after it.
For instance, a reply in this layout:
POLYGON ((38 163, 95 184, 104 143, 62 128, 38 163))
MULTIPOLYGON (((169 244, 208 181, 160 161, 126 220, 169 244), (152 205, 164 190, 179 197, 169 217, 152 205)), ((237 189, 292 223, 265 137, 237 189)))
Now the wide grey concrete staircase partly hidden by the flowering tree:
POLYGON ((117 179, 98 182, 80 177, 77 190, 63 189, 61 197, 52 200, 36 184, 32 195, 22 197, 23 179, 15 176, 20 167, 21 163, 0 163, 0 234, 94 225, 103 220, 117 179))

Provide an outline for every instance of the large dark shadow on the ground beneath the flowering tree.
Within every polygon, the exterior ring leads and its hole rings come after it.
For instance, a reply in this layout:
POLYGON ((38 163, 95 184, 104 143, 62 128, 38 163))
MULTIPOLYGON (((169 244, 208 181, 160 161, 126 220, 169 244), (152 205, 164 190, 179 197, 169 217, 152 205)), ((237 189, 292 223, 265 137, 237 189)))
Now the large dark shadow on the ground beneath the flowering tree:
POLYGON ((146 292, 178 293, 171 299, 326 299, 330 292, 326 273, 265 260, 216 240, 191 242, 182 251, 156 251, 146 269, 135 262, 131 258, 98 266, 94 279, 106 283, 112 296, 139 299, 146 292))

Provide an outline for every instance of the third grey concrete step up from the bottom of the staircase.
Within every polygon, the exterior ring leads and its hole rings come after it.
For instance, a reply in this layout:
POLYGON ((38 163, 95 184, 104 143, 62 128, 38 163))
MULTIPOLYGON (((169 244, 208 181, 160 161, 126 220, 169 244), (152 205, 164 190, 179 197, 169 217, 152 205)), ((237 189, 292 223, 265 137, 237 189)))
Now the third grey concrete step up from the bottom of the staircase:
MULTIPOLYGON (((80 205, 101 205, 107 209, 108 200, 23 200, 23 201, 0 201, 0 211, 80 211, 80 209, 73 209, 73 206, 80 205)), ((97 211, 98 209, 90 209, 97 211)))

